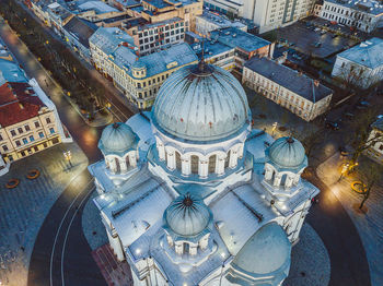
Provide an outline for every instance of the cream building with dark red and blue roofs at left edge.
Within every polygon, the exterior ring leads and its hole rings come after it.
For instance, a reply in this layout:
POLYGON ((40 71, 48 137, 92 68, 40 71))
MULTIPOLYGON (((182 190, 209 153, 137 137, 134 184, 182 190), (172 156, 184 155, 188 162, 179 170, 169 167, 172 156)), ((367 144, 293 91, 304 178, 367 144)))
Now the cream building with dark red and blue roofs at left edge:
POLYGON ((10 164, 60 142, 65 134, 53 102, 15 62, 0 59, 0 174, 10 164))

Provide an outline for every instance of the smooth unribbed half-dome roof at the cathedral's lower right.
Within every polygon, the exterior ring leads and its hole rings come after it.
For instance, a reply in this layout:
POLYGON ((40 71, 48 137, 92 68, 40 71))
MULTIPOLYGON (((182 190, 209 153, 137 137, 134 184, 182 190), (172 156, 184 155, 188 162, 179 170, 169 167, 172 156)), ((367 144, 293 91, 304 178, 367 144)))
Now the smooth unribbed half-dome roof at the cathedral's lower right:
POLYGON ((234 266, 251 274, 288 272, 291 243, 277 223, 264 225, 235 255, 234 266))

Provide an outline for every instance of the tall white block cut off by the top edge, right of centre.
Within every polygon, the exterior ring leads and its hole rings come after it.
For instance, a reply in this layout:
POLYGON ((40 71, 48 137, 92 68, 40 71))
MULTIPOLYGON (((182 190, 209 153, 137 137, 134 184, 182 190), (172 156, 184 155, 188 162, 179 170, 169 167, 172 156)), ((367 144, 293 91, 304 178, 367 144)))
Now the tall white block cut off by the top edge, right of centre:
POLYGON ((225 14, 232 13, 252 20, 259 27, 259 33, 287 26, 302 17, 306 17, 311 14, 314 5, 313 0, 207 0, 205 3, 210 9, 219 10, 225 14))

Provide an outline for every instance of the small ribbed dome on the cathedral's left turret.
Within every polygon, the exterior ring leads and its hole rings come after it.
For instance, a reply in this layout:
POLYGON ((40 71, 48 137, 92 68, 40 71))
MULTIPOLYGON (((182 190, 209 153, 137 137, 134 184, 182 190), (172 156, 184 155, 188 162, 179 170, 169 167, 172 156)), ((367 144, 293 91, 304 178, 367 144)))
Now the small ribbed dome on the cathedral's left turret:
POLYGON ((118 122, 107 126, 98 141, 98 148, 104 155, 124 155, 125 152, 137 146, 135 132, 125 123, 118 122))

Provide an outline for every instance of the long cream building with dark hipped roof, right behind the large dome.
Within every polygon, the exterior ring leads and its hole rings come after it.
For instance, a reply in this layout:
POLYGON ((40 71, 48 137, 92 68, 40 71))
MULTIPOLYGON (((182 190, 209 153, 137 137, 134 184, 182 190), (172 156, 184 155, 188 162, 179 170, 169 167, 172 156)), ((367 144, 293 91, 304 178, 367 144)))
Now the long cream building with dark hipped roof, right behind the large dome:
POLYGON ((333 96, 333 91, 318 81, 267 58, 247 61, 242 83, 305 121, 324 114, 333 96))

